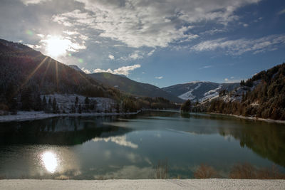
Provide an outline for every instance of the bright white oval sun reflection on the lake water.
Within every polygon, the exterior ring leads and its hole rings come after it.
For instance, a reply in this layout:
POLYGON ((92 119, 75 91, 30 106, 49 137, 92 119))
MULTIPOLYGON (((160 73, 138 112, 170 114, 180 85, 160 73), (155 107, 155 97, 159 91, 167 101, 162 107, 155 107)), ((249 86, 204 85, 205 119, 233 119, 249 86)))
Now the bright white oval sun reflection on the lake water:
POLYGON ((58 158, 56 157, 56 154, 50 151, 43 152, 43 154, 41 154, 41 161, 47 171, 51 173, 56 171, 56 167, 58 166, 58 158))

